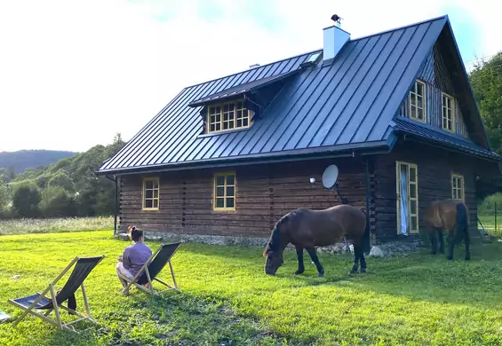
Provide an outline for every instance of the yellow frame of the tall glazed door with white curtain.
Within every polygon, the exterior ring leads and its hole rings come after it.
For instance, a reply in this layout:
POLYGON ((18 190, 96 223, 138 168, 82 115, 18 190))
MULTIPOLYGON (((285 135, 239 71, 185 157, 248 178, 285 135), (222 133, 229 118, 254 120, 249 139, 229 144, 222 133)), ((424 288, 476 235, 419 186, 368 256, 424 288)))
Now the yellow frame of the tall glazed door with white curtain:
POLYGON ((397 226, 397 233, 401 234, 401 185, 399 184, 399 177, 400 177, 400 167, 401 166, 406 166, 407 168, 407 188, 408 188, 408 198, 410 200, 410 203, 408 203, 408 215, 409 220, 408 220, 408 228, 410 230, 410 234, 417 234, 419 230, 419 217, 418 217, 418 165, 416 163, 411 163, 411 162, 406 162, 406 161, 395 161, 395 210, 396 210, 396 226, 397 226), (410 180, 410 169, 415 169, 415 180, 411 181, 410 180), (411 189, 414 189, 415 197, 411 197, 411 189), (411 201, 415 201, 415 208, 414 210, 411 210, 411 201), (417 228, 412 228, 411 227, 411 217, 416 217, 417 218, 417 228))

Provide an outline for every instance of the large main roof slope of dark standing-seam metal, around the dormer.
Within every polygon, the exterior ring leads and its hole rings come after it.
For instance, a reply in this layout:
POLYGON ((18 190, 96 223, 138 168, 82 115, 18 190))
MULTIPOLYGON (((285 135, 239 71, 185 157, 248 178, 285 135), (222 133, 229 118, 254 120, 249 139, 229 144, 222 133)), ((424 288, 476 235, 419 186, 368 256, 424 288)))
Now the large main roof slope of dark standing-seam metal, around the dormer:
POLYGON ((291 76, 248 130, 201 134, 202 107, 191 107, 190 102, 288 75, 322 50, 188 87, 99 172, 332 152, 388 142, 393 136, 389 123, 447 21, 443 16, 347 42, 330 65, 321 61, 291 76))

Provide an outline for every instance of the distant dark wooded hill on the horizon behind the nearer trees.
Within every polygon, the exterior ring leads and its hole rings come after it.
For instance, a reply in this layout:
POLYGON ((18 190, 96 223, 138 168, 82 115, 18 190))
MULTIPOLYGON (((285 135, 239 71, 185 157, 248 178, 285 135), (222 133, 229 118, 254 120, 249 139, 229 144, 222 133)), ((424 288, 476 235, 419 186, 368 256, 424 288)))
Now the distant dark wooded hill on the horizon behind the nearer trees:
POLYGON ((13 169, 15 173, 26 169, 46 167, 75 156, 77 153, 58 150, 20 150, 17 152, 0 152, 0 169, 13 169))

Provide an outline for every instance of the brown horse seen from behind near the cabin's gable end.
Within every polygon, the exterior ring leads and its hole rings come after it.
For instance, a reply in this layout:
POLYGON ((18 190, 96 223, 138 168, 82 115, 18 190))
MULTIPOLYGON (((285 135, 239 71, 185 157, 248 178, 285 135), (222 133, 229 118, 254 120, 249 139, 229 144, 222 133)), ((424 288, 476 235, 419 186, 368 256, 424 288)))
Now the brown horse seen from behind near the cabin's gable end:
POLYGON ((444 254, 444 242, 442 231, 448 232, 448 256, 453 259, 453 247, 457 245, 462 238, 466 244, 466 261, 471 259, 469 253, 469 209, 466 203, 458 200, 434 201, 426 209, 424 216, 427 229, 431 238, 432 253, 435 255, 437 250, 437 240, 439 238, 439 252, 444 254))

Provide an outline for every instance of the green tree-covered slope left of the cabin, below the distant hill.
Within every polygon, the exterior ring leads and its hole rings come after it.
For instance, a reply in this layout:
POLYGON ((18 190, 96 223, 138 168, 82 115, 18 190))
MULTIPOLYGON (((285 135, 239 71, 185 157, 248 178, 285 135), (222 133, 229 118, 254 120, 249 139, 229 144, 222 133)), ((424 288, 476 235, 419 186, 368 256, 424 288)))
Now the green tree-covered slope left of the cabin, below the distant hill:
POLYGON ((110 145, 95 145, 48 167, 26 169, 19 175, 4 169, 0 172, 0 217, 112 215, 115 183, 94 171, 124 145, 117 133, 110 145))

